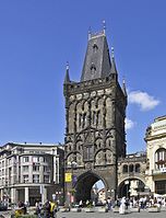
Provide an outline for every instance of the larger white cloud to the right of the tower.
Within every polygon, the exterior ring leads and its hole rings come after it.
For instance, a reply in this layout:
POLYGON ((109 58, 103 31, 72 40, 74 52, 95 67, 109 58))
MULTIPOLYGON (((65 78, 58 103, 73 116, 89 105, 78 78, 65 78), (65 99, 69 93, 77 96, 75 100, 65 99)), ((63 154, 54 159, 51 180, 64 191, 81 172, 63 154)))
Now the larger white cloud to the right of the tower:
POLYGON ((138 104, 141 111, 150 111, 159 104, 159 101, 151 96, 146 92, 132 91, 128 95, 129 103, 138 104))

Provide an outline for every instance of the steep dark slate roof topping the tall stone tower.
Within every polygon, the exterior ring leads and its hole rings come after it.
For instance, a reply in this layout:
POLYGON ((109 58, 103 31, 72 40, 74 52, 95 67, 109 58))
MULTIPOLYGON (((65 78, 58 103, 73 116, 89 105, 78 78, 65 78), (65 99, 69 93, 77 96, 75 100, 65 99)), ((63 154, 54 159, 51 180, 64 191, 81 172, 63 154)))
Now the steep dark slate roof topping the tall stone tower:
POLYGON ((91 31, 88 31, 88 43, 81 81, 108 77, 110 74, 110 68, 111 64, 105 27, 96 34, 92 34, 91 31))

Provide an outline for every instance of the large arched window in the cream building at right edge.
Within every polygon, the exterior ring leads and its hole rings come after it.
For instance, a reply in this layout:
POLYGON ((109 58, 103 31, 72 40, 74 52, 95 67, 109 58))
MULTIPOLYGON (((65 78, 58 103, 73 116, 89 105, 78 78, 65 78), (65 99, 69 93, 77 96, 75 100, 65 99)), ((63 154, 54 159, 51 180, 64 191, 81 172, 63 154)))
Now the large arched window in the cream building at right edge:
POLYGON ((155 152, 155 168, 162 169, 166 168, 166 149, 159 148, 155 152))

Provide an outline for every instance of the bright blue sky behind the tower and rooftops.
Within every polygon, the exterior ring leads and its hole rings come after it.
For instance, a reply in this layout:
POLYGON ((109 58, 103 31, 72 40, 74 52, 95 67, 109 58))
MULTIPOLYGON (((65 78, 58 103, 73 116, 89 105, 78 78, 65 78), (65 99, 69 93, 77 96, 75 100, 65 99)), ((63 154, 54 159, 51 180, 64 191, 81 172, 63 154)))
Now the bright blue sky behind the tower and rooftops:
POLYGON ((103 28, 126 78, 128 152, 145 149, 146 127, 165 115, 165 0, 0 1, 0 145, 63 142, 66 62, 79 81, 87 30, 103 28))

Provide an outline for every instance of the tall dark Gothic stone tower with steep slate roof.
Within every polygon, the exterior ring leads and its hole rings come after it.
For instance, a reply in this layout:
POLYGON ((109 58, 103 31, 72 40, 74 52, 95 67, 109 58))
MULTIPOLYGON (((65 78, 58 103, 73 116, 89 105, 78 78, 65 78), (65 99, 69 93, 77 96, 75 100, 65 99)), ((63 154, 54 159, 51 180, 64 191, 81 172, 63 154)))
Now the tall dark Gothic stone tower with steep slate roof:
POLYGON ((66 200, 91 198, 94 183, 102 180, 106 194, 116 196, 117 160, 126 156, 124 117, 127 92, 118 82, 114 53, 109 57, 105 31, 88 34, 80 82, 63 83, 66 97, 66 200))

